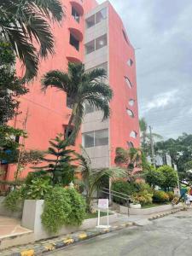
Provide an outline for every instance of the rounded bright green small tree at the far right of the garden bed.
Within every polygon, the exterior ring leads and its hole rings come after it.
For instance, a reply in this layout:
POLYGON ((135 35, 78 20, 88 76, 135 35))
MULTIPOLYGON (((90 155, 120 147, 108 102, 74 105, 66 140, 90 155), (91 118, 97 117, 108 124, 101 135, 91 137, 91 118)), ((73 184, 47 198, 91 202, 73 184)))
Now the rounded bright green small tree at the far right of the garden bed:
POLYGON ((171 166, 161 166, 157 169, 164 176, 161 188, 169 190, 177 186, 177 172, 171 166))

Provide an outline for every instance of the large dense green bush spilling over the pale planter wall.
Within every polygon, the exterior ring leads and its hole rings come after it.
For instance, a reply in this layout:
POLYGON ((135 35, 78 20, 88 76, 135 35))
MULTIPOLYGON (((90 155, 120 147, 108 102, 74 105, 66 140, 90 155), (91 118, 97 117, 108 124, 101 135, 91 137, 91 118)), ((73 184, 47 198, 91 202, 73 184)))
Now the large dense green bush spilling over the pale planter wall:
POLYGON ((84 200, 75 189, 55 187, 45 198, 42 223, 49 233, 56 233, 65 224, 81 224, 84 216, 84 200))

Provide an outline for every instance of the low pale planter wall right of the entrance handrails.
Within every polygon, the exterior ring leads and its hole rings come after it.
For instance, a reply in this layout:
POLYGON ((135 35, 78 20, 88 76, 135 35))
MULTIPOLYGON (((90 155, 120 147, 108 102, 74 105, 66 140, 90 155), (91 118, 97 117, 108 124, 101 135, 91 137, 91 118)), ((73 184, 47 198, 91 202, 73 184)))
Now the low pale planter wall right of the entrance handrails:
MULTIPOLYGON (((165 205, 165 206, 160 206, 160 207, 151 207, 151 208, 147 208, 147 209, 130 208, 130 214, 132 214, 132 215, 149 215, 149 214, 154 214, 157 212, 171 211, 173 209, 177 209, 180 207, 182 207, 181 203, 179 203, 177 206, 165 205)), ((127 207, 120 206, 120 212, 127 214, 127 212, 128 212, 127 207)))

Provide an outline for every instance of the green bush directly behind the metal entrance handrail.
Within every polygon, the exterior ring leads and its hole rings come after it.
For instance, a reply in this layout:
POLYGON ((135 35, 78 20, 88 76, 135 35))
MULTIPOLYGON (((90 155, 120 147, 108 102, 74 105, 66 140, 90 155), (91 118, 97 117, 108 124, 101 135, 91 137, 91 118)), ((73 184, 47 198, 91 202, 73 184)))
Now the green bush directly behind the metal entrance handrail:
MULTIPOLYGON (((134 192, 136 192, 136 187, 133 183, 128 183, 125 181, 115 181, 112 183, 113 191, 123 193, 125 195, 133 195, 134 192)), ((118 204, 125 204, 125 199, 119 198, 117 196, 113 196, 113 201, 118 204)))

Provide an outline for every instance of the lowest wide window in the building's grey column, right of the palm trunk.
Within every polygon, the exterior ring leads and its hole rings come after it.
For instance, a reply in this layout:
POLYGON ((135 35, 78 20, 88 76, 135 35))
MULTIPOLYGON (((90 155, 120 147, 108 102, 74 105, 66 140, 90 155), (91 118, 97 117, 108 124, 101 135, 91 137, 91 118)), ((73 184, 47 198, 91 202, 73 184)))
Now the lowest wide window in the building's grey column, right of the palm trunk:
POLYGON ((83 134, 84 148, 108 145, 108 129, 83 134))

